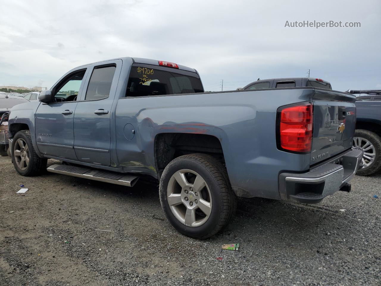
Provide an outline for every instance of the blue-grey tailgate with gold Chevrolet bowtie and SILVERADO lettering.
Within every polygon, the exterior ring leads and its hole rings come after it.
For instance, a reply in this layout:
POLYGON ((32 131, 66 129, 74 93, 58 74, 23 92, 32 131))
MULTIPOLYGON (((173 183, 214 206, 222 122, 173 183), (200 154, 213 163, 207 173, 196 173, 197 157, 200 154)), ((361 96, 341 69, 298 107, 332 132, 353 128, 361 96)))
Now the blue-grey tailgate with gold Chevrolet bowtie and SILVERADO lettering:
POLYGON ((316 88, 310 165, 352 147, 356 125, 355 97, 316 88))

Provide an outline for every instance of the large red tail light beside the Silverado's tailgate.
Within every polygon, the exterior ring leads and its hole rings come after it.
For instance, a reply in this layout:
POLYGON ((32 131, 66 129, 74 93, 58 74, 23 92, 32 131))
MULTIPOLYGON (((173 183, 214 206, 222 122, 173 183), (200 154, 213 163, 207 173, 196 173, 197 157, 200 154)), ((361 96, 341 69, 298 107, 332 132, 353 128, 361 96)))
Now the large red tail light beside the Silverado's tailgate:
POLYGON ((313 105, 292 104, 278 109, 278 146, 285 151, 309 153, 312 145, 313 105))

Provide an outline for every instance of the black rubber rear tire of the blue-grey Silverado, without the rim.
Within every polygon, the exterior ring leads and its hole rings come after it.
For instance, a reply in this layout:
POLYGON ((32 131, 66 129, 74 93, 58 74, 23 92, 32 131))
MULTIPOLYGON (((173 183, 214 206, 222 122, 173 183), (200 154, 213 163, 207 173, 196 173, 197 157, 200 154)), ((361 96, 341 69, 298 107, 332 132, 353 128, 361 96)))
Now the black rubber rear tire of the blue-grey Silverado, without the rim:
POLYGON ((218 233, 232 218, 237 204, 226 168, 214 157, 206 154, 189 154, 171 161, 160 178, 159 196, 164 213, 171 225, 183 235, 196 239, 209 238, 218 233), (172 175, 181 169, 189 169, 201 175, 208 185, 213 200, 208 219, 197 227, 190 227, 180 222, 168 204, 168 183, 172 175))

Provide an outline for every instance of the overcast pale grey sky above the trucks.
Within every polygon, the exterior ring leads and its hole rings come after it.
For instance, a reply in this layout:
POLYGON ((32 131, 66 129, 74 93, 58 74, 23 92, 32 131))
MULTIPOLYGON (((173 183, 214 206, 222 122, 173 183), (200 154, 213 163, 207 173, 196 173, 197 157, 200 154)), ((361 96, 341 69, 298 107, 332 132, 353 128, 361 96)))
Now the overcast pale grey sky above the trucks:
POLYGON ((381 88, 381 1, 0 0, 0 85, 50 88, 73 67, 123 56, 199 71, 205 90, 311 77, 381 88), (285 27, 286 21, 361 27, 285 27))

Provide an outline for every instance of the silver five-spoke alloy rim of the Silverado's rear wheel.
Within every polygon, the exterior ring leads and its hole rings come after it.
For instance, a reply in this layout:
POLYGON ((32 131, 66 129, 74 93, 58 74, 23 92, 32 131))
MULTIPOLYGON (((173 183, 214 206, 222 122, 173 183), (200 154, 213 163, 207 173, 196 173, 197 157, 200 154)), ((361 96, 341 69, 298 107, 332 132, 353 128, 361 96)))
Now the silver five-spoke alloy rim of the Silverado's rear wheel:
POLYGON ((176 219, 188 227, 199 227, 209 218, 212 196, 201 175, 182 169, 168 182, 167 200, 176 219))

